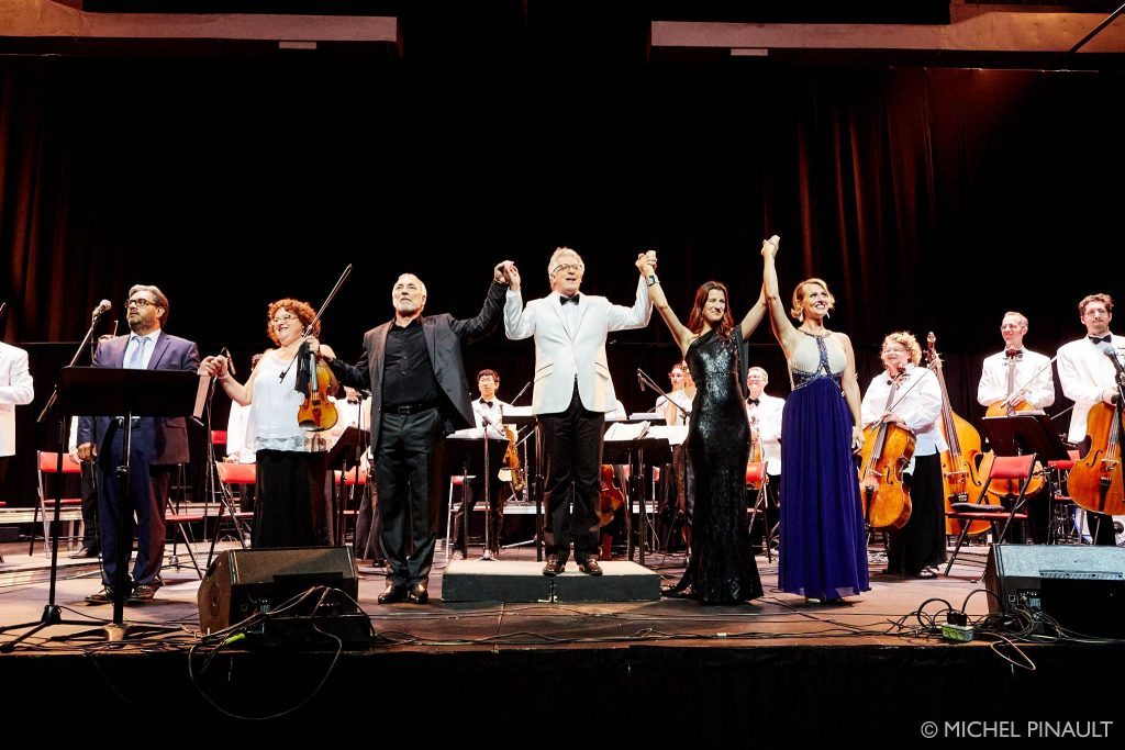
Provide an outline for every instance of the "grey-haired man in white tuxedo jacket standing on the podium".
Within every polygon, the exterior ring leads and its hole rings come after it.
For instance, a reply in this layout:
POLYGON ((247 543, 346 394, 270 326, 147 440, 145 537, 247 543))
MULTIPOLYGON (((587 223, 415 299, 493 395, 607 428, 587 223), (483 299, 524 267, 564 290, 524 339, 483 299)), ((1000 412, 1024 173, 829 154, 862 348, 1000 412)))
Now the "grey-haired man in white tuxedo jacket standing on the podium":
MULTIPOLYGON (((656 253, 650 254, 655 263, 656 253)), ((572 539, 579 569, 591 576, 602 573, 596 513, 602 430, 605 413, 618 400, 605 359, 605 337, 610 331, 644 328, 652 316, 645 279, 640 279, 633 306, 623 307, 604 297, 580 295, 585 269, 574 250, 557 249, 547 265, 551 293, 524 307, 520 273, 514 265, 506 268, 504 329, 508 338, 536 340, 531 410, 539 418, 549 461, 543 488, 548 514, 544 576, 557 576, 566 568, 572 539)))

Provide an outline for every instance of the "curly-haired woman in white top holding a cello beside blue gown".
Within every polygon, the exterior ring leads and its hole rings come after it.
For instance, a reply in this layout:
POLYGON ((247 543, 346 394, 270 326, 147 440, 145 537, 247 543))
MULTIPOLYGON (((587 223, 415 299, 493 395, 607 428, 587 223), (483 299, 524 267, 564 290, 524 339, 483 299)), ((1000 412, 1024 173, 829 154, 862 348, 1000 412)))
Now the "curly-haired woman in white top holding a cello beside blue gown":
MULTIPOLYGON (((875 376, 863 395, 862 422, 868 440, 863 466, 871 464, 871 430, 881 423, 904 427, 914 433, 914 458, 903 470, 909 493, 910 517, 898 531, 890 530, 886 572, 909 578, 933 578, 945 560, 945 509, 942 488, 942 457, 945 440, 938 427, 942 413, 942 387, 937 377, 919 368, 921 347, 907 332, 889 334, 881 352, 883 373, 875 376)), ((888 441, 889 443, 891 441, 888 441)), ((878 457, 875 457, 878 458, 878 457)), ((893 466, 898 457, 884 455, 893 466)), ((861 477, 861 480, 864 480, 861 477)))

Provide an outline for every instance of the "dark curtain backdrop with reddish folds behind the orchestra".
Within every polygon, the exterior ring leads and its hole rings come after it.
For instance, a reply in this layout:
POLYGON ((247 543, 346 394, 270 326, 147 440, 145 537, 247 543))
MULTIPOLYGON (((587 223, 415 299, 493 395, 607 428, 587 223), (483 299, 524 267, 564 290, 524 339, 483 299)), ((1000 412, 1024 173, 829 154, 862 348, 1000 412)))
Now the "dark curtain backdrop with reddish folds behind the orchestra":
MULTIPOLYGON (((1053 353, 1082 333, 1083 295, 1118 290, 1123 89, 1118 73, 759 61, 4 60, 0 331, 32 344, 37 387, 4 497, 32 499, 29 451, 53 432, 32 423, 66 342, 104 297, 122 317, 132 283, 168 293, 170 333, 228 345, 244 369, 268 344, 266 305, 320 304, 348 263, 323 338, 354 358, 398 273, 426 282, 429 311, 469 316, 505 257, 526 297, 547 291, 558 244, 583 253, 587 291, 629 304, 632 259, 656 247, 681 315, 711 278, 741 314, 776 232, 782 287, 829 281, 864 386, 886 332, 934 331, 954 408, 976 416, 1005 310, 1053 353)), ((754 342, 784 395, 780 350, 766 329, 754 342)), ((630 409, 651 401, 634 369, 664 381, 676 356, 658 319, 611 336, 630 409)), ((467 364, 500 370, 511 398, 531 358, 497 333, 467 364)))

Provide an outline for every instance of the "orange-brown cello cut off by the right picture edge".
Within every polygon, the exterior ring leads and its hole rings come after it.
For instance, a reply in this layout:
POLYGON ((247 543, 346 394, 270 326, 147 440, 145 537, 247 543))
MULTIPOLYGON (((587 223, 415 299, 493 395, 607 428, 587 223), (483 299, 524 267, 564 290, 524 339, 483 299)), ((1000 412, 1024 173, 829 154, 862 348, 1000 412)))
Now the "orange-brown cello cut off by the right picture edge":
POLYGON ((1095 404, 1086 417, 1090 449, 1070 470, 1066 489, 1079 507, 1092 513, 1125 514, 1122 482, 1122 407, 1095 404))

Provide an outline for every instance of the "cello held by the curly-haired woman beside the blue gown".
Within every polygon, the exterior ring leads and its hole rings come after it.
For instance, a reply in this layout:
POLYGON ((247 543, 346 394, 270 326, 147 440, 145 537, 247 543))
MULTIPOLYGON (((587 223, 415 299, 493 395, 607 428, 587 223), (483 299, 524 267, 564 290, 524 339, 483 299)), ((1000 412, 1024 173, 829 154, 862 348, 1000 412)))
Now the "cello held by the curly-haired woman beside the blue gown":
MULTIPOLYGON (((904 377, 906 371, 893 378, 888 408, 904 377)), ((893 422, 880 422, 864 430, 863 435, 860 496, 864 521, 872 528, 902 528, 910 519, 910 488, 902 481, 902 471, 914 455, 915 434, 893 422)))

